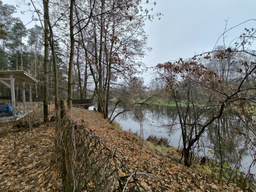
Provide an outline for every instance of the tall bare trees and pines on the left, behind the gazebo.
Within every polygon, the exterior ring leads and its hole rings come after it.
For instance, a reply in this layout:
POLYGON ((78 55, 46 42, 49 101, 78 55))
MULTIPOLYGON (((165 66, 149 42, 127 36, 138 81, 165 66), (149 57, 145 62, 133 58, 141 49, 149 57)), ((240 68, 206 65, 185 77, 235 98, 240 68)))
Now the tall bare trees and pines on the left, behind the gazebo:
POLYGON ((71 106, 72 94, 79 99, 96 96, 98 111, 107 118, 110 90, 141 73, 138 59, 150 49, 143 26, 154 15, 142 7, 149 2, 42 2, 27 4, 38 21, 31 29, 12 17, 14 6, 1 4, 1 69, 33 74, 41 82, 34 95, 44 100, 45 108, 54 98, 56 103, 67 99, 71 106))

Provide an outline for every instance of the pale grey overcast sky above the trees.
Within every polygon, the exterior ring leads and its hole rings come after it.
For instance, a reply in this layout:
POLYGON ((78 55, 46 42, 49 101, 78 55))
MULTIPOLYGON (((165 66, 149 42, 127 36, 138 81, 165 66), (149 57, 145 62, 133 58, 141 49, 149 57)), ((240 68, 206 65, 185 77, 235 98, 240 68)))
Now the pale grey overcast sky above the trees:
MULTIPOLYGON (((4 3, 16 4, 16 0, 3 0, 4 3)), ((151 0, 153 2, 153 0, 151 0)), ((147 66, 186 59, 212 50, 219 36, 227 29, 248 19, 256 19, 256 0, 155 0, 153 12, 164 16, 146 21, 145 31, 148 46, 153 50, 143 58, 147 66)), ((21 14, 15 15, 21 17, 21 14)), ((27 23, 31 16, 22 16, 27 23), (25 20, 27 19, 27 21, 25 20)), ((32 24, 33 26, 34 24, 32 24)), ((256 21, 250 21, 227 33, 226 43, 238 37, 247 27, 256 27, 256 21)), ((223 38, 217 45, 223 44, 223 38)))

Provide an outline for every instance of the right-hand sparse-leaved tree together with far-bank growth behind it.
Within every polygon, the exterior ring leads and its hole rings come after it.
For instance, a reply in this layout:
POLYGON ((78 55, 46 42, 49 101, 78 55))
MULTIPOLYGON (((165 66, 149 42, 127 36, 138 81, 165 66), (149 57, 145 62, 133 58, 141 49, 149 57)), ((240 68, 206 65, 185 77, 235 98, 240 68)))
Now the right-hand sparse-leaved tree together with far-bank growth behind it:
MULTIPOLYGON (((254 33, 255 29, 244 29, 233 47, 219 46, 193 58, 158 64, 151 84, 141 83, 133 92, 134 105, 176 108, 177 118, 166 126, 170 130, 180 126, 185 166, 190 167, 196 148, 204 148, 202 136, 207 133, 221 169, 229 162, 233 165, 231 173, 236 173, 244 153, 251 154, 245 175, 250 177, 250 170, 255 169, 256 54, 246 48, 254 33)), ((140 114, 142 128, 144 107, 137 107, 135 113, 140 114)))

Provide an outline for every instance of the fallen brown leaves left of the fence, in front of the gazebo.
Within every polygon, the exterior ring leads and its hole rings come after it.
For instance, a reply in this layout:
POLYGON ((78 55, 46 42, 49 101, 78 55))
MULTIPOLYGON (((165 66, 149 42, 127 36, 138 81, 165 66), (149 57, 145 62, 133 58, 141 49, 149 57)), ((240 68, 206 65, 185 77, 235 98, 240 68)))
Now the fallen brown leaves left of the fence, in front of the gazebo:
POLYGON ((19 122, 0 124, 0 191, 57 190, 57 167, 52 163, 54 127, 43 124, 40 114, 41 109, 19 122), (41 125, 31 126, 31 131, 17 128, 17 124, 35 123, 41 125))

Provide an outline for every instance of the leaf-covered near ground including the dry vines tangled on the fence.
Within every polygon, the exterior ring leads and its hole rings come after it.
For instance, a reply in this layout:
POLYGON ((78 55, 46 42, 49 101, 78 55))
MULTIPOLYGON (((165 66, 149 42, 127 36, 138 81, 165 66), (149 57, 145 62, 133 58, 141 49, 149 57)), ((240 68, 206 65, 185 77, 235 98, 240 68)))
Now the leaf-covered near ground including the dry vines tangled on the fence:
MULTIPOLYGON (((63 167, 58 153, 60 149, 56 149, 56 142, 60 144, 61 141, 56 137, 54 122, 43 124, 42 105, 38 103, 39 108, 33 116, 19 122, 22 128, 12 128, 16 123, 1 126, 2 191, 62 189, 63 167)), ((54 115, 53 104, 49 109, 54 115)), ((253 189, 252 183, 244 183, 244 188, 238 188, 239 182, 233 182, 233 177, 227 186, 219 172, 213 171, 217 168, 212 169, 207 162, 203 166, 198 160, 190 168, 185 167, 178 162, 182 149, 147 141, 140 143, 138 136, 114 128, 99 112, 74 108, 69 115, 73 122, 68 125, 71 126, 68 132, 73 132, 70 135, 76 137, 66 138, 70 184, 66 187, 88 191, 119 188, 140 191, 253 189), (91 145, 85 145, 87 142, 91 145)))

